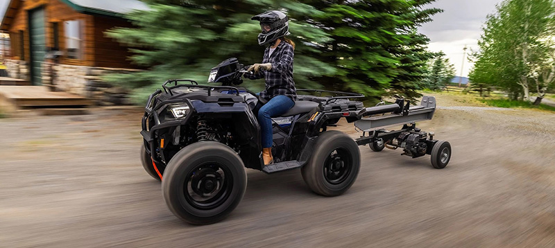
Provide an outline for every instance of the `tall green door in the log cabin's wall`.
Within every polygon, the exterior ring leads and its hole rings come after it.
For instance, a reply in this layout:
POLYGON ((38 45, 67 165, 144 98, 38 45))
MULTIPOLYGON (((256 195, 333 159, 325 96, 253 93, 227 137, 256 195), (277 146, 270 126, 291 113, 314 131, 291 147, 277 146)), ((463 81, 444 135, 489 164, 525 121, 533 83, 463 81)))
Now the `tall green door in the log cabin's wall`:
POLYGON ((44 8, 29 10, 29 51, 31 51, 31 83, 42 85, 42 62, 46 55, 44 8))

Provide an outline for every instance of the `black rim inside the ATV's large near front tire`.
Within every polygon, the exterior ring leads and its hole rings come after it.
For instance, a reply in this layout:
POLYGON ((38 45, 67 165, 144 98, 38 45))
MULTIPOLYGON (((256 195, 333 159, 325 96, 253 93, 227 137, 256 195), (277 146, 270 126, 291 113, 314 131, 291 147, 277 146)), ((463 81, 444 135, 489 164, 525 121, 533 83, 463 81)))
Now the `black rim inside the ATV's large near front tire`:
POLYGON ((189 172, 183 184, 185 200, 200 210, 210 210, 228 200, 233 187, 229 168, 219 162, 207 162, 189 172))

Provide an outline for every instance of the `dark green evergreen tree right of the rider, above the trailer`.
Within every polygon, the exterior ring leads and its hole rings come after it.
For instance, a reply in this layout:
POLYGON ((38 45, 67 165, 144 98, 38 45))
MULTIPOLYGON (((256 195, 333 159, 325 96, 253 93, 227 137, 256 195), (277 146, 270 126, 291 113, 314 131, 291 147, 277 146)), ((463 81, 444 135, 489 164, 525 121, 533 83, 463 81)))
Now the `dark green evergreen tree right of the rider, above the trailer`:
POLYGON ((441 12, 424 8, 433 1, 305 1, 324 12, 314 21, 333 39, 320 47, 320 60, 336 66, 337 73, 318 82, 375 98, 420 96, 416 89, 434 54, 416 28, 441 12))

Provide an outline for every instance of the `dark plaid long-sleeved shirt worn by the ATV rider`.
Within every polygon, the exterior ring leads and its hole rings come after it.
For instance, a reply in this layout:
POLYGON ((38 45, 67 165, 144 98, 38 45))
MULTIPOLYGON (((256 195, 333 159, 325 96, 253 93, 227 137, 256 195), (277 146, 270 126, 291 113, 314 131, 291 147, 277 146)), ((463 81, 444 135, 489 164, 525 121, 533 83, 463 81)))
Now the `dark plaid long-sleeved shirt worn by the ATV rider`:
POLYGON ((260 96, 270 100, 274 96, 289 96, 296 100, 297 91, 293 82, 293 46, 287 42, 280 42, 270 56, 270 47, 264 51, 262 64, 272 64, 270 71, 259 71, 253 75, 245 74, 246 78, 266 80, 266 89, 260 92, 260 96))

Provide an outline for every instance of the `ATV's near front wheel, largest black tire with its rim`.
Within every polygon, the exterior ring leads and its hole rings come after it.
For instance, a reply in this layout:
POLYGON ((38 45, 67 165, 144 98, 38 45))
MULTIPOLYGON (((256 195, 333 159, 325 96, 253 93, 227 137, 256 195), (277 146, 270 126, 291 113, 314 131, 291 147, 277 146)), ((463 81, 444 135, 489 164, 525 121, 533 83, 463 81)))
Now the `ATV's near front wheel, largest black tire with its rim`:
POLYGON ((191 224, 223 220, 241 202, 247 186, 237 152, 213 141, 180 150, 163 177, 162 195, 169 210, 191 224))

